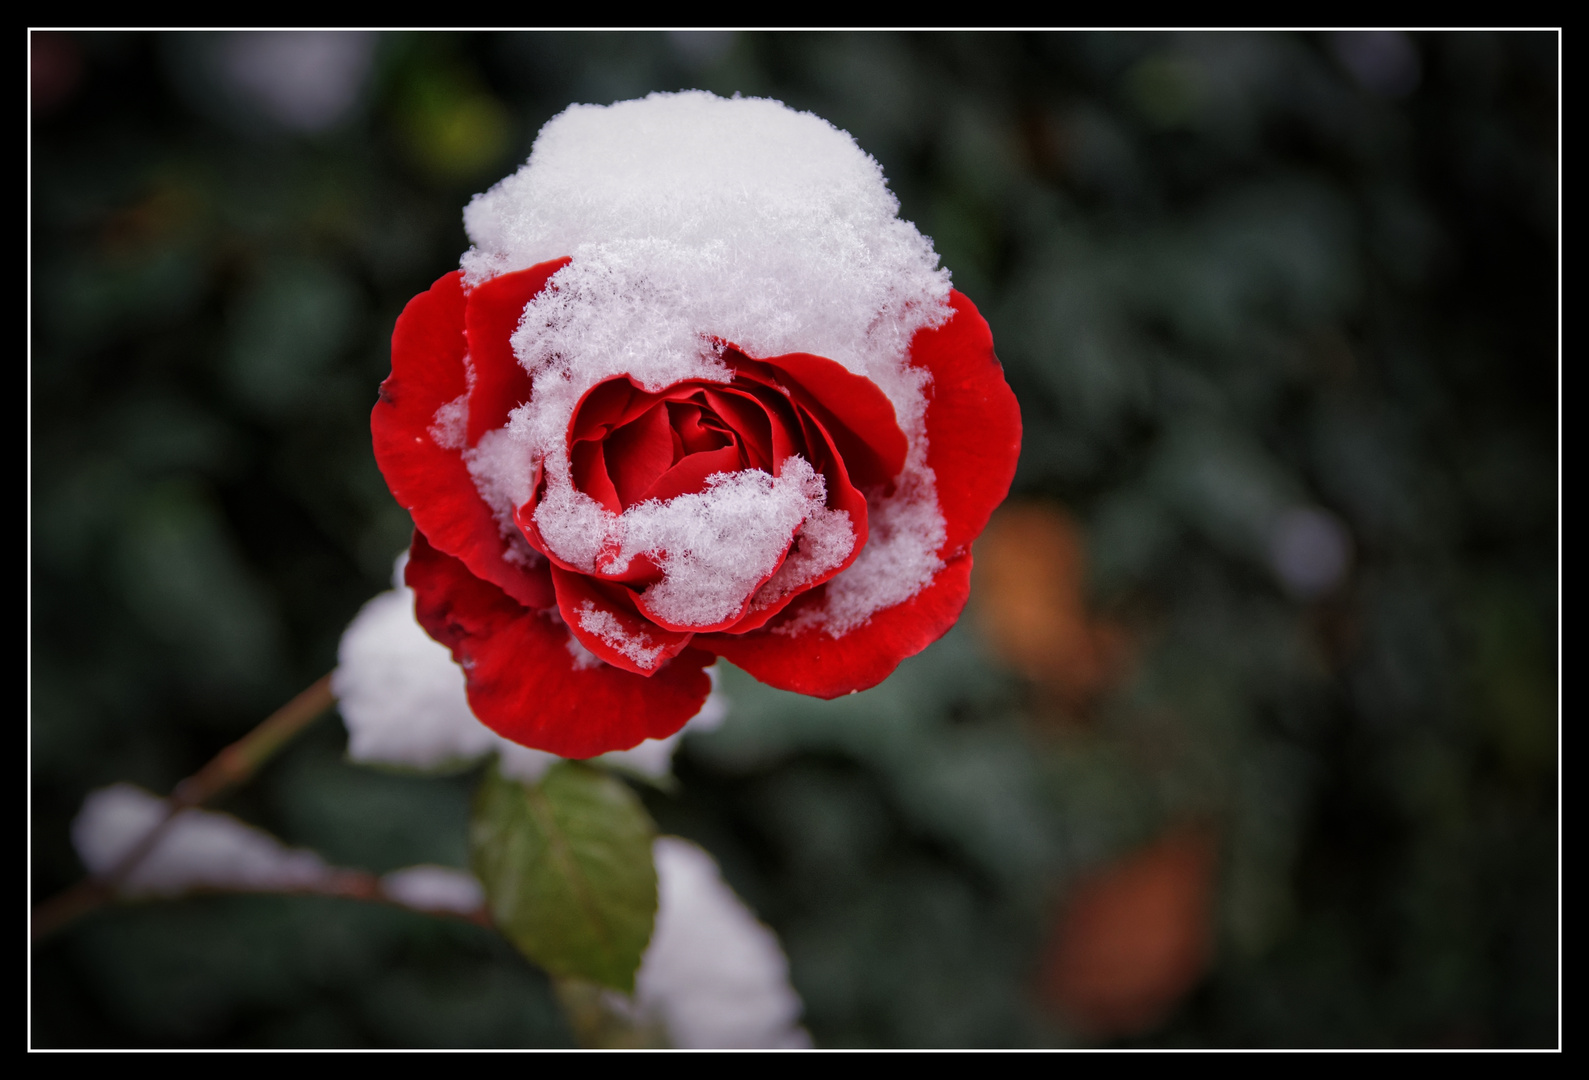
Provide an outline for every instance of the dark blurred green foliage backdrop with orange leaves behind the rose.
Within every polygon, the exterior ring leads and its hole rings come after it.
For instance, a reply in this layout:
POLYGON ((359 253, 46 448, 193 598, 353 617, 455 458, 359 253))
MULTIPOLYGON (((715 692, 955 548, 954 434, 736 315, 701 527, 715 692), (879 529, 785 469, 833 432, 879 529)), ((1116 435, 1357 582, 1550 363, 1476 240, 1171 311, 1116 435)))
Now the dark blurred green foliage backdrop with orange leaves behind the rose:
MULTIPOLYGON (((818 1045, 1559 1032, 1551 33, 33 33, 35 902, 118 780, 335 662, 410 523, 369 408, 467 199, 570 102, 852 132, 1025 419, 961 624, 644 788, 818 1045)), ((221 808, 462 866, 472 773, 321 721, 221 808)), ((567 1045, 493 934, 208 897, 33 950, 35 1045, 567 1045)))

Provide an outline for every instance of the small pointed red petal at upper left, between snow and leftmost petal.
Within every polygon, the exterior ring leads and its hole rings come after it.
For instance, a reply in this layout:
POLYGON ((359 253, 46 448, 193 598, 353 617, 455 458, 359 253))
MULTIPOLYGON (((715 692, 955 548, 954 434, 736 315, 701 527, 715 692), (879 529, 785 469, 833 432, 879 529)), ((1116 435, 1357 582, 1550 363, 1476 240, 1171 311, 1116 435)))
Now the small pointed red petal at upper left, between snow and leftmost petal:
POLYGON ((524 316, 524 305, 547 287, 547 280, 567 259, 542 262, 491 278, 469 292, 464 334, 475 384, 469 391, 469 445, 507 422, 507 415, 529 400, 529 372, 513 356, 513 330, 524 316))

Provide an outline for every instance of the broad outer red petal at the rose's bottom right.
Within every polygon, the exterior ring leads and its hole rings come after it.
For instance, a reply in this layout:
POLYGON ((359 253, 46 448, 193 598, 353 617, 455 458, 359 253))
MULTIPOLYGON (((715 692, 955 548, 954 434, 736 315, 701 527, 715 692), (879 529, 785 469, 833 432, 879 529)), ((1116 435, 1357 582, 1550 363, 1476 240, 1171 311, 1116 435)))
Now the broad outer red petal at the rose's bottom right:
POLYGON ((963 554, 938 572, 933 581, 896 607, 877 611, 864 626, 841 638, 822 629, 779 634, 809 604, 820 604, 814 589, 791 604, 774 624, 750 634, 702 634, 694 643, 709 648, 767 686, 815 697, 839 697, 868 689, 888 678, 907 656, 915 656, 955 624, 971 592, 971 556, 963 554))

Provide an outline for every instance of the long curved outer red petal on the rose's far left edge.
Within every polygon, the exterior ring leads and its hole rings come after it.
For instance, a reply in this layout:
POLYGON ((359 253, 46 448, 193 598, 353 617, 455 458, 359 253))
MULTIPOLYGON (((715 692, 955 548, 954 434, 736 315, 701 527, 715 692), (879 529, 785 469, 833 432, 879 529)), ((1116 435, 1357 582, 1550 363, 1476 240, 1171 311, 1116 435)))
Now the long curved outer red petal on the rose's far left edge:
POLYGON ((526 569, 504 557, 508 543, 475 491, 461 449, 440 446, 431 434, 435 411, 467 389, 464 307, 462 273, 454 272, 397 316, 392 373, 370 411, 375 461, 392 496, 432 545, 520 604, 551 607, 547 567, 526 569))

